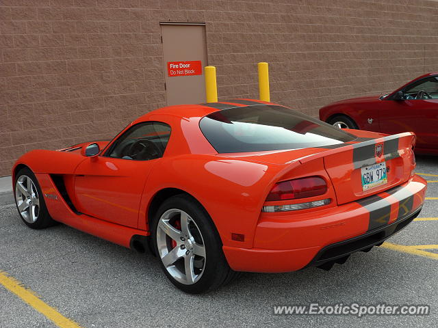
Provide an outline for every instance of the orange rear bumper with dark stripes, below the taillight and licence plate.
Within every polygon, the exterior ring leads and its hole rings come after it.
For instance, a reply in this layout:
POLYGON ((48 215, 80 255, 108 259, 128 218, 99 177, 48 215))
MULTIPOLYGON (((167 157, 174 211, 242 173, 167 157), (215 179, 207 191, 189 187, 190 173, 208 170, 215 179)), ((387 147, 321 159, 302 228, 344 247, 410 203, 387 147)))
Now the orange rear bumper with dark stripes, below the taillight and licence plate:
POLYGON ((253 248, 224 246, 235 271, 288 272, 342 263, 407 226, 420 213, 426 180, 408 182, 357 202, 305 214, 262 213, 253 248))

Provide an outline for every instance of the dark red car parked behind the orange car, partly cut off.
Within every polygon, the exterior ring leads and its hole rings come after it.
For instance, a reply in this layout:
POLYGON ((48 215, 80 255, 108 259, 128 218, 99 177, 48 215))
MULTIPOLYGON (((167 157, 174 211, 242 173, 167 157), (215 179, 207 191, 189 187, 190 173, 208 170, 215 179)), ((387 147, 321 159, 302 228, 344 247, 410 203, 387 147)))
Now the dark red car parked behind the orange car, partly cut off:
POLYGON ((417 77, 391 94, 322 107, 320 120, 338 128, 387 134, 413 131, 417 135, 415 152, 438 154, 438 73, 417 77))

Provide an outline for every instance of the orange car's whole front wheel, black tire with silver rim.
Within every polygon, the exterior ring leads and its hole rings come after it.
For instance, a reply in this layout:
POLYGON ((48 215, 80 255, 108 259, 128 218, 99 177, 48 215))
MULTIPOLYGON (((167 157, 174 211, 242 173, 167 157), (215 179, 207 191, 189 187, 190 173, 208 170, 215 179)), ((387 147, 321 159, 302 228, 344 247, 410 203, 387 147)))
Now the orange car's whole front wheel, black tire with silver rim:
POLYGON ((24 167, 15 176, 15 205, 26 226, 44 229, 53 226, 46 203, 34 172, 24 167))

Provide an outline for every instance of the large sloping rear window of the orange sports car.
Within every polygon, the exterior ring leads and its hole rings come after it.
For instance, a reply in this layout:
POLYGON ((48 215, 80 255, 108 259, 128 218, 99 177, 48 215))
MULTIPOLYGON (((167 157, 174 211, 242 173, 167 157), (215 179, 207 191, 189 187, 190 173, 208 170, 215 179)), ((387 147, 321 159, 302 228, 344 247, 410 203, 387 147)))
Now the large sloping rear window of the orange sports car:
POLYGON ((199 122, 217 152, 261 152, 331 146, 356 137, 308 115, 275 105, 235 107, 199 122))

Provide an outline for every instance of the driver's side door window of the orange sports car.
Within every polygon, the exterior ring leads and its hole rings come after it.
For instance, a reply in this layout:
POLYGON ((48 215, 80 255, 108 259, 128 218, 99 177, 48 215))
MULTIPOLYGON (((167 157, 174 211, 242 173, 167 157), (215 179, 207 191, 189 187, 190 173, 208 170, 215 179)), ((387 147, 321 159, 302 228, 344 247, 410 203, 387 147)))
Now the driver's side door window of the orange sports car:
POLYGON ((166 150, 169 137, 168 124, 160 122, 136 124, 114 141, 105 156, 135 161, 159 159, 166 150))

